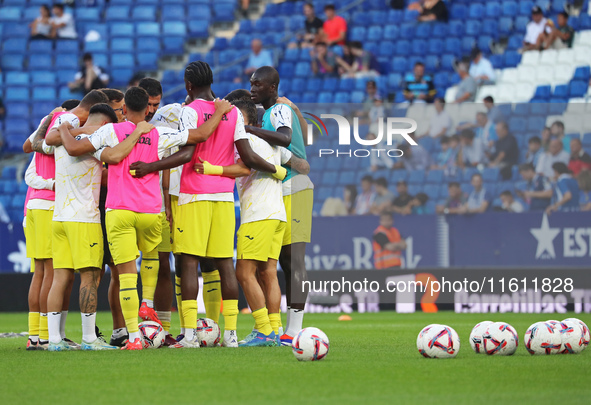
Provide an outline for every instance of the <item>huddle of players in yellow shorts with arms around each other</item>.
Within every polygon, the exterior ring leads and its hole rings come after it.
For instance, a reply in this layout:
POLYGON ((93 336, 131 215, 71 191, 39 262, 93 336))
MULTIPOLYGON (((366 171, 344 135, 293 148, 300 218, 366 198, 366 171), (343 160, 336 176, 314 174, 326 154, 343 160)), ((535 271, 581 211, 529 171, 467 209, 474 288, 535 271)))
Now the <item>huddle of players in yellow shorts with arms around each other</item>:
POLYGON ((211 68, 192 62, 183 105, 160 107, 160 82, 145 78, 125 94, 101 89, 68 100, 41 121, 23 146, 34 153, 25 174, 33 271, 27 350, 141 350, 148 343, 138 318, 162 325, 170 348, 199 348, 199 269, 207 318, 224 317, 222 346, 291 345, 307 298, 302 285, 314 188, 302 133, 307 126, 297 106, 278 98, 274 68, 259 68, 250 81, 250 92, 216 99, 211 68), (278 262, 287 287, 285 331, 278 262), (108 343, 96 327, 105 266, 113 317, 108 343), (80 344, 65 334, 75 273, 80 344), (254 318, 241 341, 239 286, 254 318), (181 326, 176 338, 170 333, 173 293, 181 326))

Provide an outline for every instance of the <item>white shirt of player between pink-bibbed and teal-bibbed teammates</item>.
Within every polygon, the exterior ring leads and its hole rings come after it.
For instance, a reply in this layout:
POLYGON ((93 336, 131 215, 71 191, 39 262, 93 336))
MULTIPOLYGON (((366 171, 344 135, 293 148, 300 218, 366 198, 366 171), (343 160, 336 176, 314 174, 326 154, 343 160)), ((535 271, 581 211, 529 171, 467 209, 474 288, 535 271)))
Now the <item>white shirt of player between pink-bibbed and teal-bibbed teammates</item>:
MULTIPOLYGON (((271 146, 257 136, 249 134, 248 142, 257 155, 272 165, 281 165, 291 159, 289 150, 271 146)), ((236 153, 236 161, 239 158, 236 153)), ((286 222, 281 181, 274 178, 271 173, 251 170, 248 176, 236 179, 236 186, 240 197, 241 223, 266 219, 286 222)))

